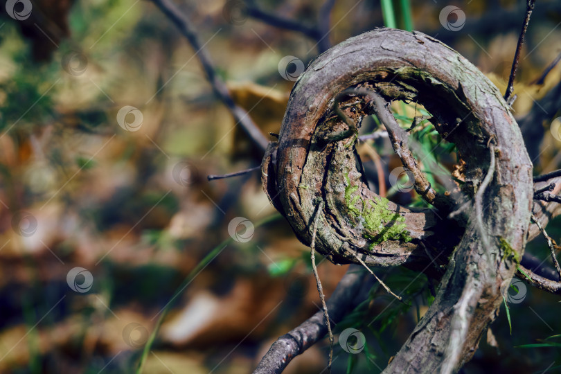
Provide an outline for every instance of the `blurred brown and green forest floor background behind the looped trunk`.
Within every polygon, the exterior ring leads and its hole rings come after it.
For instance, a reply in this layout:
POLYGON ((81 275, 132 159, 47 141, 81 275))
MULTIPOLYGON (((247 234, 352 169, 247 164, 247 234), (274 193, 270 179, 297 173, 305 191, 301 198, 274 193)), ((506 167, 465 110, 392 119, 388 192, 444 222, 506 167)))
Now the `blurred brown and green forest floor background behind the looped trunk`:
MULTIPOLYGON (((442 40, 506 89, 526 1, 334 3, 330 19, 323 0, 176 4, 271 141, 301 67, 384 24, 442 40)), ((1 12, 0 373, 135 373, 140 362, 143 373, 251 372, 321 304, 309 249, 260 172, 206 179, 259 166, 262 150, 213 94, 197 50, 146 0, 8 0, 1 12)), ((560 24, 561 2, 537 1, 514 86, 517 118, 544 112, 526 137, 536 173, 561 164, 560 109, 546 96, 561 80, 551 65, 560 24)), ((411 123, 410 109, 395 112, 411 123)), ((422 129, 429 150, 440 143, 422 129)), ((438 151, 450 169, 453 148, 438 151)), ((380 195, 420 204, 391 185, 400 161, 383 134, 359 154, 380 195)), ((559 220, 547 229, 560 239, 559 220)), ((542 238, 526 250, 551 266, 542 238)), ((317 261, 330 295, 347 266, 317 261)), ((375 271, 411 306, 369 281, 334 330, 337 341, 356 328, 366 346, 335 344, 334 373, 380 372, 431 303, 426 276, 375 271)), ((558 296, 528 286, 522 299, 508 318, 501 310, 464 373, 560 370, 558 296)), ((324 339, 285 373, 321 373, 327 353, 324 339)))

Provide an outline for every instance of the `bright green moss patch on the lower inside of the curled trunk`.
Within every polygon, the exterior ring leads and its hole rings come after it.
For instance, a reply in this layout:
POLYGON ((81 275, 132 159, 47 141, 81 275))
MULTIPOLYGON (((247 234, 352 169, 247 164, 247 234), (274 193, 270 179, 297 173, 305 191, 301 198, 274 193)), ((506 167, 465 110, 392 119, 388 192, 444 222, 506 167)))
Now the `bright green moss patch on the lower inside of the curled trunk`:
POLYGON ((345 187, 345 202, 348 211, 357 218, 362 218, 364 228, 371 233, 365 234, 364 238, 372 240, 370 249, 374 246, 385 242, 386 240, 404 240, 411 241, 405 217, 399 215, 388 208, 389 200, 384 197, 377 197, 377 202, 366 201, 359 195, 355 195, 358 186, 351 186, 348 174, 345 175, 347 186, 345 187), (362 211, 357 208, 357 202, 360 200, 362 211))

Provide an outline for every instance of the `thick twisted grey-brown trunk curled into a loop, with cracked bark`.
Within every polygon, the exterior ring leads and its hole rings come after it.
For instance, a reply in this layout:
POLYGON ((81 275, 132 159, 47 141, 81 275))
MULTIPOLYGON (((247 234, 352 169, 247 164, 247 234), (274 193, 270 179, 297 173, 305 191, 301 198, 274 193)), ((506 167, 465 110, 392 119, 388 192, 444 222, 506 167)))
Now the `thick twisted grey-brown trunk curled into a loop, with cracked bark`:
MULTIPOLYGON (((372 113, 368 98, 359 94, 341 100, 341 110, 357 124, 372 113)), ((420 240, 430 257, 447 262, 436 300, 384 373, 451 373, 472 357, 497 316, 501 285, 515 271, 515 256, 506 256, 499 243, 508 243, 517 256, 524 251, 531 172, 519 127, 483 73, 436 39, 389 28, 347 39, 310 63, 292 89, 278 143, 269 145, 262 163, 267 195, 305 244, 315 206, 323 200, 316 250, 335 264, 357 262, 357 255, 368 265, 422 269, 430 260, 420 240), (325 141, 348 129, 333 105, 349 88, 416 102, 432 114, 436 130, 456 144, 465 162, 465 184, 451 191, 472 205, 463 219, 440 220, 434 211, 389 202, 392 220, 384 220, 381 230, 368 225, 368 207, 385 204, 357 170, 356 137, 325 141), (490 144, 495 171, 483 193, 481 232, 473 197, 490 168, 490 144), (384 231, 398 222, 407 235, 386 238, 384 231)))

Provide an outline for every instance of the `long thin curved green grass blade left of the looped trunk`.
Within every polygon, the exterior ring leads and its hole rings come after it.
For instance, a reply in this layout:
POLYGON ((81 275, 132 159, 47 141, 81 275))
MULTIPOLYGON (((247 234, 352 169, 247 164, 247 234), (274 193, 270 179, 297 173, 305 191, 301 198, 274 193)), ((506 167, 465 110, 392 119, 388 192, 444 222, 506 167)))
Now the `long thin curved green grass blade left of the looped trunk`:
MULTIPOLYGON (((278 220, 278 218, 280 218, 280 217, 283 217, 283 216, 280 215, 280 214, 271 215, 270 217, 267 217, 267 218, 257 222, 255 224, 255 227, 259 227, 259 226, 262 226, 263 224, 267 224, 267 223, 272 222, 274 220, 278 220)), ((144 364, 146 362, 146 358, 148 357, 148 353, 150 353, 150 348, 152 348, 152 344, 154 344, 154 339, 156 339, 156 335, 157 335, 157 333, 158 333, 158 331, 161 327, 161 323, 163 322, 163 319, 166 318, 166 314, 168 314, 170 308, 175 304, 176 297, 181 292, 184 292, 184 288, 186 288, 187 285, 189 283, 191 283, 191 281, 193 281, 195 276, 197 276, 199 274, 199 272, 202 271, 202 269, 204 269, 206 267, 206 265, 208 265, 216 256, 218 256, 218 253, 220 253, 224 248, 226 248, 226 246, 228 244, 230 244, 232 241, 233 241, 233 238, 228 238, 228 239, 224 240, 223 242, 221 242, 220 244, 218 244, 216 247, 214 247, 213 250, 210 251, 206 256, 204 256, 204 258, 197 264, 197 266, 189 272, 189 274, 186 276, 186 278, 181 283, 181 285, 179 285, 179 287, 177 287, 177 290, 175 290, 175 292, 173 293, 174 296, 171 299, 171 301, 161 310, 160 315, 158 317, 158 321, 154 325, 154 329, 152 330, 152 333, 150 334, 150 337, 148 337, 148 341, 146 341, 146 344, 144 346, 144 350, 142 351, 142 356, 141 356, 141 360, 140 360, 140 363, 139 363, 139 367, 136 368, 136 374, 141 374, 142 373, 144 364)))

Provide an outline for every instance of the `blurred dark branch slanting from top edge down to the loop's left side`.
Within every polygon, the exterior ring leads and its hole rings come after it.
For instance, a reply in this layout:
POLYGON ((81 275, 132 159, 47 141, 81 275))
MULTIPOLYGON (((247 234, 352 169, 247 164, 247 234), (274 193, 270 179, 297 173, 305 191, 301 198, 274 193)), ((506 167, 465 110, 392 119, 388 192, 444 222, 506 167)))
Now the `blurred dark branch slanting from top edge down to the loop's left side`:
POLYGON ((189 43, 196 51, 196 55, 206 73, 208 82, 210 82, 213 87, 213 91, 220 100, 222 100, 222 103, 228 107, 236 123, 242 126, 245 132, 247 132, 249 137, 261 150, 265 150, 269 141, 267 141, 261 130, 259 130, 259 127, 251 120, 247 111, 235 104, 228 87, 226 87, 226 83, 224 83, 220 75, 217 74, 211 56, 208 54, 206 48, 204 48, 204 45, 199 41, 195 28, 187 15, 181 12, 175 3, 172 3, 170 0, 152 0, 152 2, 160 8, 163 14, 179 28, 181 34, 188 39, 189 43))

